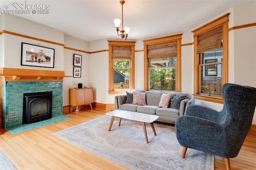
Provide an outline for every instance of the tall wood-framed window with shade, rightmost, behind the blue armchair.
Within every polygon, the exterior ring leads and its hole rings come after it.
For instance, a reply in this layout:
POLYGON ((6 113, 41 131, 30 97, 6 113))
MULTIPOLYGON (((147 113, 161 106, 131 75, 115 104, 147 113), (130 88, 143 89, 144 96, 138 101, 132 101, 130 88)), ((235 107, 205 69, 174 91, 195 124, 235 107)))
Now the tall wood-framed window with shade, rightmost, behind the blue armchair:
POLYGON ((228 82, 228 15, 194 32, 194 98, 223 103, 228 82))

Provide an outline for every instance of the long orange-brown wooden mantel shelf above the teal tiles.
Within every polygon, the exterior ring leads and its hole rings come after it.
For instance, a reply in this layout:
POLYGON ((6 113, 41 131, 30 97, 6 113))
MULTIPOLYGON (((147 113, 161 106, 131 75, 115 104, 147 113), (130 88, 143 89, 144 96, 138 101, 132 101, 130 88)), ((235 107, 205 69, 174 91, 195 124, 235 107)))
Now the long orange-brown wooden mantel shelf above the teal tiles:
POLYGON ((16 69, 2 67, 0 69, 2 81, 63 81, 65 71, 16 69))

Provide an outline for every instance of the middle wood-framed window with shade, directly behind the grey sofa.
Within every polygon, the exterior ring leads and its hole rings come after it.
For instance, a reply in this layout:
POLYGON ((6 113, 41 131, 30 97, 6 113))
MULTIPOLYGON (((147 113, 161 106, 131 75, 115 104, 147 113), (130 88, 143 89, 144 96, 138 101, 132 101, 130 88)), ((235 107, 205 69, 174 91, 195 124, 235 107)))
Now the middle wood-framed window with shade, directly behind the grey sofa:
POLYGON ((143 41, 144 89, 181 91, 181 36, 143 41))

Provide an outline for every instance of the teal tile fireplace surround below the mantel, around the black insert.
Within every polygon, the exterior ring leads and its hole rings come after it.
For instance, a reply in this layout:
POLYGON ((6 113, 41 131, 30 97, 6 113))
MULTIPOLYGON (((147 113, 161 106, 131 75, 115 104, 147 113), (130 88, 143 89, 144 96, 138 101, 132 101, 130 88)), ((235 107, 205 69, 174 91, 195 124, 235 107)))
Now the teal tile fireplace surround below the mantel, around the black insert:
POLYGON ((62 81, 2 81, 2 126, 22 125, 23 94, 45 91, 52 91, 52 117, 62 115, 62 81))

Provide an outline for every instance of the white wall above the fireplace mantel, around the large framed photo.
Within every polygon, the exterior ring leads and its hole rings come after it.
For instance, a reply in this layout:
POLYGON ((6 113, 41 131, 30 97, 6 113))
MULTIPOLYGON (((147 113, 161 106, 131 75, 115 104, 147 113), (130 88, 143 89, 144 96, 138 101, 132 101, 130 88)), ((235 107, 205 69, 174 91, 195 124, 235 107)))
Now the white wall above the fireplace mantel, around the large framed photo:
MULTIPOLYGON (((1 21, 4 22, 3 26, 1 26, 2 30, 63 44, 63 32, 60 30, 56 30, 54 28, 50 28, 48 26, 44 26, 42 24, 38 24, 36 22, 10 14, 1 14, 1 18, 1 21)), ((64 69, 63 47, 60 45, 49 44, 37 40, 13 36, 10 34, 1 35, 1 39, 3 44, 1 43, 0 67, 48 70, 64 69), (22 42, 55 49, 54 61, 58 61, 58 64, 55 64, 54 68, 20 65, 22 42), (2 50, 4 52, 2 52, 2 50)))

